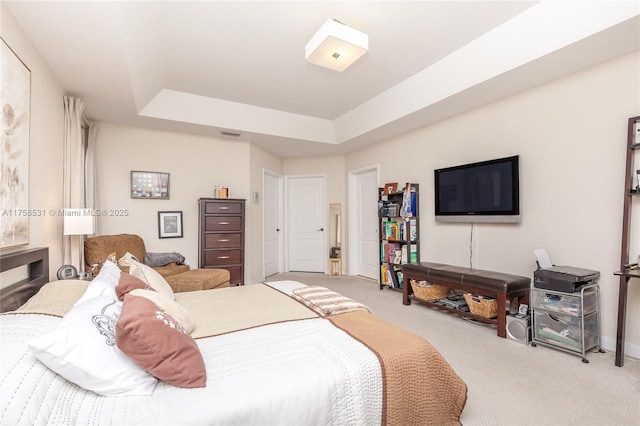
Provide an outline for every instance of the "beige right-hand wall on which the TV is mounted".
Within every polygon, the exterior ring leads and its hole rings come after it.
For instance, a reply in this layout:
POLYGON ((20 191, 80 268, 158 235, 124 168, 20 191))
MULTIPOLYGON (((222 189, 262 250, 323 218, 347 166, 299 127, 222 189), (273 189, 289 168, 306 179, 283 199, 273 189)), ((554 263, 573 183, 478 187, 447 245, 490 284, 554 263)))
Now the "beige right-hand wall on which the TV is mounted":
MULTIPOLYGON (((627 119, 640 114, 640 55, 570 75, 347 156, 380 165, 380 184, 420 184, 421 260, 531 276, 532 250, 601 273, 602 335, 615 347, 627 119), (389 153, 395 153, 389 155, 389 153), (404 153, 401 155, 400 153, 404 153), (433 170, 520 156, 517 225, 436 223, 433 170), (473 233, 472 249, 470 238, 473 233)), ((636 157, 640 168, 640 157, 636 157)), ((640 254, 634 198, 631 253, 640 254)), ((640 286, 629 287, 627 353, 640 356, 640 286)))

